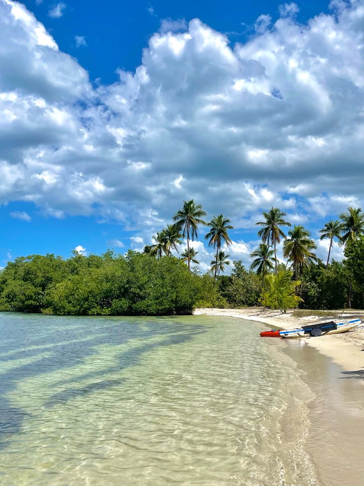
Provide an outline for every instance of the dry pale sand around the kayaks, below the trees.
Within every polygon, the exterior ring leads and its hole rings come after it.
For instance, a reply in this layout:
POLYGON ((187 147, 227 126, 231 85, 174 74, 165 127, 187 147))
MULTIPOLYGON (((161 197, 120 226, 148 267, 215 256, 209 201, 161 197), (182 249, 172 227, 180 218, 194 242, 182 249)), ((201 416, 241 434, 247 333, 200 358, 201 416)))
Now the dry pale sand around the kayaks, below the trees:
MULTIPOLYGON (((277 329, 293 329, 310 323, 320 323, 332 320, 330 317, 318 317, 313 311, 312 316, 293 317, 293 310, 282 314, 280 311, 264 310, 262 307, 249 307, 246 309, 196 309, 195 315, 227 316, 247 321, 256 321, 277 329)), ((341 314, 341 313, 340 313, 341 314)), ((347 310, 342 314, 340 321, 361 318, 364 320, 364 311, 347 310)), ((337 318, 335 317, 335 320, 337 318)), ((262 326, 264 330, 264 326, 262 326)), ((268 338, 267 338, 268 339, 268 338)), ((335 363, 342 366, 353 377, 364 378, 364 324, 353 331, 342 334, 331 334, 320 337, 305 337, 308 346, 330 357, 335 363)))

